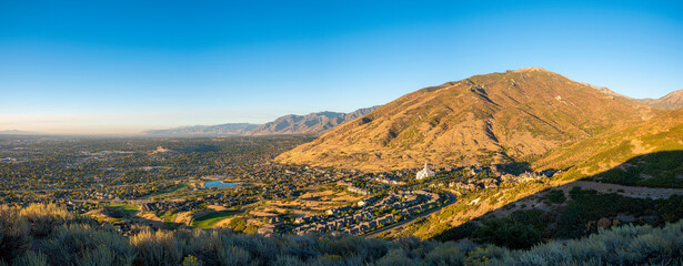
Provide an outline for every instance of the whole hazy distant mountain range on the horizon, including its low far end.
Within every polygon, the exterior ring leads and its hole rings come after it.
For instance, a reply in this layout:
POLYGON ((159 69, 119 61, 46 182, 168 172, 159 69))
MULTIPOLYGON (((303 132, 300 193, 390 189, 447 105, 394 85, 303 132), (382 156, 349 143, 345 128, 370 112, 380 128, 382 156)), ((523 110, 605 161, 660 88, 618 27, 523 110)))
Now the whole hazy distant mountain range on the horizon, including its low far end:
POLYGON ((318 112, 307 115, 289 114, 265 124, 229 123, 193 125, 168 130, 151 130, 143 132, 143 134, 150 136, 321 134, 338 125, 361 117, 378 108, 359 109, 351 113, 318 112))

